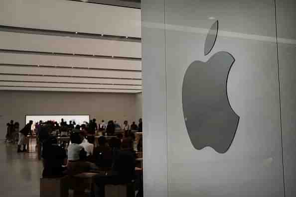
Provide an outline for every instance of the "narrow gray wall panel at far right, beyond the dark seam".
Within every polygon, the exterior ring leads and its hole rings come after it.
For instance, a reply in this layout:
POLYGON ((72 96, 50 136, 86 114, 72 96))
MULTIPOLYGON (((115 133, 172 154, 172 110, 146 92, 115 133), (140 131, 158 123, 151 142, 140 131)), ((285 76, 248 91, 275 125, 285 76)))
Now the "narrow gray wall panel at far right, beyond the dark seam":
POLYGON ((276 0, 286 197, 296 196, 296 1, 276 0))

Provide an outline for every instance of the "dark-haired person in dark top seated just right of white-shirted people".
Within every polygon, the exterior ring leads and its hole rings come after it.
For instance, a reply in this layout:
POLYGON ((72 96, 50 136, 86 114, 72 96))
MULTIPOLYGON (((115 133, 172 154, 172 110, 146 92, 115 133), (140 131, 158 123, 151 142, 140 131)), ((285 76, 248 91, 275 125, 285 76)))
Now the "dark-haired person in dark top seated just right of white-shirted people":
POLYGON ((98 167, 108 168, 112 165, 112 150, 104 136, 98 139, 99 146, 94 149, 93 161, 98 167))

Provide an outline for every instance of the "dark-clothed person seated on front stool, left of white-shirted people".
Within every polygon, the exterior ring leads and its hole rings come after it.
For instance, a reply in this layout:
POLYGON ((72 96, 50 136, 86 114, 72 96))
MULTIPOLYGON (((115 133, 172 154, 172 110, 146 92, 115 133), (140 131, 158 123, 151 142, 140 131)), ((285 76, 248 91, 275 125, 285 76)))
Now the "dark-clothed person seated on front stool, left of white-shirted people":
POLYGON ((65 149, 57 144, 57 139, 51 136, 43 143, 43 178, 58 178, 66 174, 67 154, 65 149))

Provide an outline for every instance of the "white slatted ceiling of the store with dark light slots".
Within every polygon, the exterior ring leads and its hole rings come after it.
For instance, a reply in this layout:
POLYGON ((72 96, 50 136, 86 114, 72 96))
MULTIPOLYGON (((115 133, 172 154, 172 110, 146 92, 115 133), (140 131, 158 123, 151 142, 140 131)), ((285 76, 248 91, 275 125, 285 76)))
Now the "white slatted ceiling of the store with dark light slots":
POLYGON ((142 92, 140 9, 1 0, 0 43, 0 90, 142 92))

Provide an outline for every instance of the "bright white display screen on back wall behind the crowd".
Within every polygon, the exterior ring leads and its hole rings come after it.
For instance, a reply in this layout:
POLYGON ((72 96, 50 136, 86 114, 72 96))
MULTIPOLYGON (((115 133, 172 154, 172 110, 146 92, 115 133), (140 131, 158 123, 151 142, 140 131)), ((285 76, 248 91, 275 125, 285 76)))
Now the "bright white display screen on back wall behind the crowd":
POLYGON ((76 125, 89 122, 89 115, 26 115, 25 118, 26 124, 30 120, 33 120, 33 123, 39 122, 40 120, 42 120, 43 122, 52 120, 60 123, 62 118, 64 119, 64 121, 67 122, 67 124, 69 124, 70 120, 72 121, 72 123, 75 122, 76 125))

